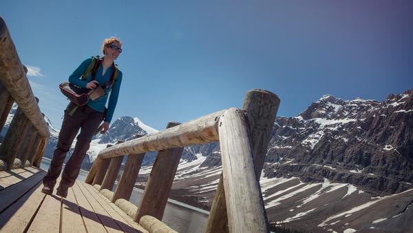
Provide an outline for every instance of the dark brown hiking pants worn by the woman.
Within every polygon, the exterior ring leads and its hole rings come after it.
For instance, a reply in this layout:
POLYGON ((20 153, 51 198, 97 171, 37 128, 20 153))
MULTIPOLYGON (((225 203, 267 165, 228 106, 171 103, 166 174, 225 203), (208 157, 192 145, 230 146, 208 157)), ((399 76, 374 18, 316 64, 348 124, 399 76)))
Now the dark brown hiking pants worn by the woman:
POLYGON ((102 112, 93 110, 87 105, 79 106, 76 112, 70 116, 69 112, 74 106, 75 105, 72 102, 67 105, 62 128, 59 133, 59 142, 56 145, 56 150, 54 150, 49 170, 43 178, 43 184, 51 188, 56 184, 56 179, 61 173, 66 153, 70 150, 74 137, 79 129, 81 129, 81 133, 78 134, 76 138, 77 141, 74 147, 74 152, 65 165, 61 179, 61 183, 65 183, 70 187, 74 184, 74 181, 76 181, 81 170, 81 164, 85 158, 85 154, 87 150, 89 150, 90 141, 92 141, 94 132, 103 120, 102 112))

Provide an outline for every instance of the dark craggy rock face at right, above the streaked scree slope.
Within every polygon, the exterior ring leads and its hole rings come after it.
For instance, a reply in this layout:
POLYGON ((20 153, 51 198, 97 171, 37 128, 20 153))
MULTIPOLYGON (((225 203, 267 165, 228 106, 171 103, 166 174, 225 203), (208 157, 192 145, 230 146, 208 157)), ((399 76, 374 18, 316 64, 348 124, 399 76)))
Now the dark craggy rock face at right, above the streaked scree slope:
POLYGON ((277 117, 265 176, 324 178, 377 194, 413 188, 413 90, 385 101, 326 95, 298 117, 277 117))

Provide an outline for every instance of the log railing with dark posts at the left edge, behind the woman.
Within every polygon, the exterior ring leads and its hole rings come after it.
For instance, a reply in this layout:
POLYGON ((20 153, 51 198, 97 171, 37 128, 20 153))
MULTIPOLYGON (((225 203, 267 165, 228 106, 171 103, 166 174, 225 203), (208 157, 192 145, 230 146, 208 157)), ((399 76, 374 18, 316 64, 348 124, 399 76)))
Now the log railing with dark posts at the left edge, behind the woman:
POLYGON ((0 170, 39 167, 50 136, 26 72, 0 17, 0 130, 14 101, 19 106, 0 146, 0 170))

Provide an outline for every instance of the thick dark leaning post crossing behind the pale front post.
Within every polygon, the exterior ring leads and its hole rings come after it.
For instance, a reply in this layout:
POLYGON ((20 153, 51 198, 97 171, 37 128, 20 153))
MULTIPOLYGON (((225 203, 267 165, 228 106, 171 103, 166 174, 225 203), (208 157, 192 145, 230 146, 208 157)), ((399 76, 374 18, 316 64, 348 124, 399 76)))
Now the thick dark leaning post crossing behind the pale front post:
MULTIPOLYGON (((259 89, 246 92, 244 103, 242 104, 242 109, 246 111, 250 129, 255 174, 258 179, 261 176, 278 106, 279 98, 276 94, 259 89)), ((222 175, 211 205, 211 212, 205 232, 229 232, 222 175)))

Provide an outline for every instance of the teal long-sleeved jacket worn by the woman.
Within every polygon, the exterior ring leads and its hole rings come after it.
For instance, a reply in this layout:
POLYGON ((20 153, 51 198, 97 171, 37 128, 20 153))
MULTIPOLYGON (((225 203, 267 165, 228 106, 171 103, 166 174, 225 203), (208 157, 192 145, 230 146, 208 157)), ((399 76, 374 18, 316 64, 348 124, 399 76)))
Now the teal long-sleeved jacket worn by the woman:
MULTIPOLYGON (((81 76, 85 73, 85 71, 87 70, 87 67, 89 66, 91 62, 92 62, 92 58, 88 58, 85 61, 83 61, 81 65, 79 65, 79 67, 76 68, 76 70, 74 70, 73 74, 70 75, 69 82, 73 83, 74 85, 77 85, 78 87, 86 88, 86 84, 89 83, 89 81, 91 81, 92 79, 92 74, 89 74, 86 80, 82 80, 81 76)), ((105 75, 102 75, 103 65, 100 65, 98 70, 96 71, 95 80, 98 81, 100 85, 105 85, 105 83, 109 81, 110 74, 112 73, 113 69, 114 69, 114 65, 107 68, 105 75)), ((116 79, 114 85, 112 85, 111 88, 105 89, 105 94, 103 94, 103 96, 101 96, 99 99, 96 99, 94 101, 89 99, 89 101, 87 102, 87 105, 90 108, 98 112, 105 112, 105 105, 107 102, 107 97, 109 96, 109 92, 110 92, 109 103, 107 105, 107 112, 106 112, 106 118, 105 118, 105 121, 109 123, 110 121, 112 121, 112 117, 114 115, 114 111, 116 108, 116 103, 118 103, 120 83, 122 83, 122 72, 120 72, 119 70, 119 76, 116 79)))

